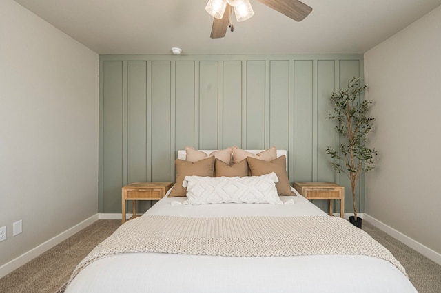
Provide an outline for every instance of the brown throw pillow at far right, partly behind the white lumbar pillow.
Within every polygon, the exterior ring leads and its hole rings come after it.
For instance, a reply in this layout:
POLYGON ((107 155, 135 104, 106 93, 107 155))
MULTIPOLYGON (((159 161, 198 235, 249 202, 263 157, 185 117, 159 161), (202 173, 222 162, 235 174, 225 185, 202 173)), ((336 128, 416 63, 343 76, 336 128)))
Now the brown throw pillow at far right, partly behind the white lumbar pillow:
POLYGON ((251 157, 248 157, 247 161, 252 176, 261 176, 271 172, 276 173, 278 177, 278 182, 276 183, 278 195, 296 195, 296 193, 291 191, 291 185, 289 184, 285 155, 281 155, 271 162, 251 157))

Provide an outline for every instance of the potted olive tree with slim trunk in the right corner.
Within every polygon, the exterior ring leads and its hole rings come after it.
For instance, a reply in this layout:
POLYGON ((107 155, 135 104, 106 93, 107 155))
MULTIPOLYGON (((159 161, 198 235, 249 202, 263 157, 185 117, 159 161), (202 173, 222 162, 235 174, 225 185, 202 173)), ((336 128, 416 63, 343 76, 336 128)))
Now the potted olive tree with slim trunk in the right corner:
POLYGON ((358 102, 358 97, 366 85, 360 85, 360 78, 352 78, 347 89, 340 89, 333 93, 331 102, 334 113, 330 119, 336 120, 336 129, 342 138, 338 149, 328 146, 326 151, 333 159, 332 166, 338 172, 345 173, 351 182, 353 216, 349 221, 361 228, 362 219, 357 217, 356 186, 360 177, 375 168, 373 155, 375 149, 370 149, 367 144, 369 132, 373 129, 374 118, 367 116, 371 100, 358 102))

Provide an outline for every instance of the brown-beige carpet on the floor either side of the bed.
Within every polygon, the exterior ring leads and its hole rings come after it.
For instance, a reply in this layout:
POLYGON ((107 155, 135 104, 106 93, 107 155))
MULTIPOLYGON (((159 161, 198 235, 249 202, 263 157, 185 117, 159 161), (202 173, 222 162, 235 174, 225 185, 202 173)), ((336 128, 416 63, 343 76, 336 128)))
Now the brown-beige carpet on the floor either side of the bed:
MULTIPOLYGON (((120 225, 120 220, 96 221, 0 279, 0 292, 57 292, 68 281, 76 264, 120 225)), ((423 257, 367 222, 363 223, 363 230, 388 248, 400 261, 418 292, 441 292, 441 265, 423 257)))

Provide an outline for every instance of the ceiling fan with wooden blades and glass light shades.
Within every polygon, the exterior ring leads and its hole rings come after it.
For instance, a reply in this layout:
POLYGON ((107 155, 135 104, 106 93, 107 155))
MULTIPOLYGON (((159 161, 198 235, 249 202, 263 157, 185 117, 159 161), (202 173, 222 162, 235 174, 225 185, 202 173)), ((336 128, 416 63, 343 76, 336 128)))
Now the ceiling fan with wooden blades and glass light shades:
MULTIPOLYGON (((298 0, 258 0, 269 8, 272 8, 290 19, 302 21, 311 13, 312 8, 298 0)), ((253 16, 254 11, 249 0, 209 0, 205 10, 214 17, 212 39, 223 38, 229 27, 234 30, 232 13, 236 14, 238 22, 245 21, 253 16)))

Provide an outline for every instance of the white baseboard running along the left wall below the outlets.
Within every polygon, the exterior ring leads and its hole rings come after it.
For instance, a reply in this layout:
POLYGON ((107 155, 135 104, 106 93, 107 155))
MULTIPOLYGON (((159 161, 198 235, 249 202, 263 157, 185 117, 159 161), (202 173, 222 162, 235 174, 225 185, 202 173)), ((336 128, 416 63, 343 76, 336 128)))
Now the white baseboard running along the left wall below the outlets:
MULTIPOLYGON (((32 259, 38 257, 43 252, 50 250, 50 248, 56 246, 57 244, 61 243, 65 239, 68 239, 69 237, 74 235, 76 232, 83 230, 83 228, 89 226, 90 224, 94 223, 94 221, 96 221, 98 219, 99 219, 99 214, 95 214, 92 217, 85 219, 81 223, 76 224, 72 228, 69 228, 68 230, 65 230, 64 232, 61 232, 59 235, 52 237, 48 241, 41 243, 39 246, 32 248, 28 252, 21 254, 19 257, 12 259, 12 261, 9 261, 8 263, 1 265, 0 266, 0 278, 3 278, 3 276, 6 276, 7 274, 12 272, 13 270, 16 270, 17 268, 21 267, 21 265, 28 263, 28 261, 32 261, 32 259)), ((121 219, 121 217, 120 217, 120 219, 121 219)))

